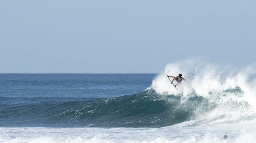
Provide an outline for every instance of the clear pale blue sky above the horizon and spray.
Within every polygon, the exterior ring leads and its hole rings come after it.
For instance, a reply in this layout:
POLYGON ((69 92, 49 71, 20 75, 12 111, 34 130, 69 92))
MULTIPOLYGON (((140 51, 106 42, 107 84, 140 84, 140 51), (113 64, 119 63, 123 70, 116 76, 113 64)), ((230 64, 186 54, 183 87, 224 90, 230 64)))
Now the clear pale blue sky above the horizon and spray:
POLYGON ((1 0, 0 73, 159 73, 256 62, 255 0, 1 0))

